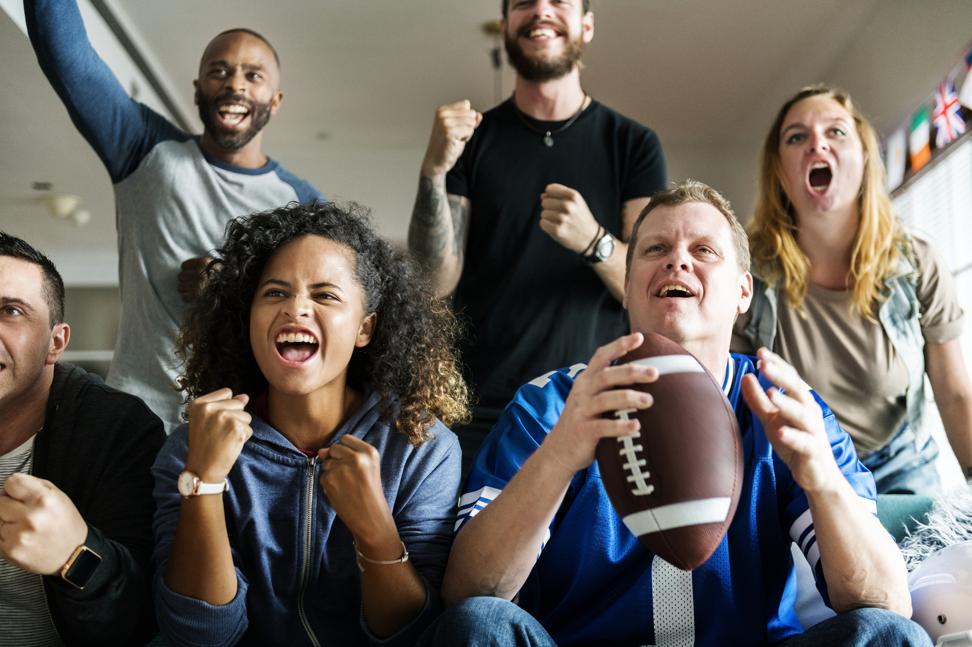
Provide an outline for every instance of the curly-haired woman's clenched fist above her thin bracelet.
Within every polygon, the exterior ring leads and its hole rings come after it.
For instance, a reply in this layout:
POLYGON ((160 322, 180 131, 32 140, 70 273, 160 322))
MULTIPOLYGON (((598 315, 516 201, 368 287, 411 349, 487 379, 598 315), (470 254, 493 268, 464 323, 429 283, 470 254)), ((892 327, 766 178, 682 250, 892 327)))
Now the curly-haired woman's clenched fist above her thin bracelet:
POLYGON ((318 451, 322 460, 321 487, 344 525, 356 538, 374 539, 395 528, 381 488, 378 450, 350 434, 318 451))

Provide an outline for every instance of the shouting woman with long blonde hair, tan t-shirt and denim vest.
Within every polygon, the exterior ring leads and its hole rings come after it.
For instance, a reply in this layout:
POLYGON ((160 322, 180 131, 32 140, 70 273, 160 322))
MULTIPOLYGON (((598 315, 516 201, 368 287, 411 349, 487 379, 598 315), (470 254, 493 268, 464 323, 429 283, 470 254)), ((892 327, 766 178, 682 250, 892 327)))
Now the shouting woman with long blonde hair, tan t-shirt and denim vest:
POLYGON ((749 227, 753 300, 732 350, 791 363, 851 434, 882 494, 935 494, 927 374, 972 477, 972 384, 952 272, 894 215, 874 128, 846 92, 805 87, 766 137, 749 227))

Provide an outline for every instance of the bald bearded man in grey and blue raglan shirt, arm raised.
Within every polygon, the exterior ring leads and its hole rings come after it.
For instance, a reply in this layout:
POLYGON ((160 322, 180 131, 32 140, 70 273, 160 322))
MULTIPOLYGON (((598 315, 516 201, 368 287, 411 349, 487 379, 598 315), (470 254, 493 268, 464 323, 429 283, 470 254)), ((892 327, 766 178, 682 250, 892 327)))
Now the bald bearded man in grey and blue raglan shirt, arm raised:
POLYGON ((115 187, 121 324, 108 384, 140 396, 171 431, 181 423, 176 336, 226 222, 324 197, 261 150, 284 96, 280 61, 249 29, 210 41, 192 82, 205 125, 194 137, 128 97, 88 43, 75 0, 23 9, 41 69, 115 187))

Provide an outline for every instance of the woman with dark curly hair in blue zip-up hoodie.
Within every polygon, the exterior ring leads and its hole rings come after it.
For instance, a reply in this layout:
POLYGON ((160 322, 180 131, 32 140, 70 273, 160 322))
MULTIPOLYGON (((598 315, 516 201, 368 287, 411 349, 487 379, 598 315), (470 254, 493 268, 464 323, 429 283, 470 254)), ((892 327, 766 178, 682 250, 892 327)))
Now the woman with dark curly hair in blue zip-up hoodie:
POLYGON ((363 212, 237 219, 209 265, 178 349, 189 424, 153 467, 169 644, 411 644, 440 608, 456 323, 363 212))

